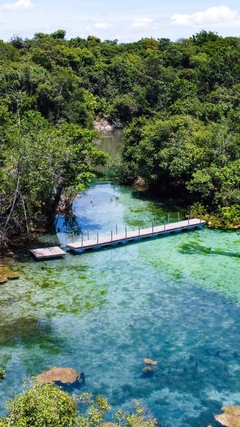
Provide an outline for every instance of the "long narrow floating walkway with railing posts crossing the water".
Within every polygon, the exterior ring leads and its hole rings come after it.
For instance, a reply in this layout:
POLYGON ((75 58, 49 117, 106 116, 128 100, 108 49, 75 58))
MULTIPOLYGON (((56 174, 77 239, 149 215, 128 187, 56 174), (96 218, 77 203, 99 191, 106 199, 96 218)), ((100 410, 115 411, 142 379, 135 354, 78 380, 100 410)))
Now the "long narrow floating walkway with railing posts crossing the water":
POLYGON ((118 243, 127 243, 131 241, 137 241, 143 238, 148 237, 157 237, 164 234, 170 234, 183 230, 194 230, 196 228, 202 227, 206 224, 206 221, 203 221, 198 218, 187 219, 184 221, 178 221, 169 224, 163 224, 158 226, 152 226, 150 228, 138 228, 138 230, 128 231, 125 228, 124 233, 114 234, 111 232, 110 236, 99 236, 94 239, 85 240, 82 236, 81 241, 68 243, 67 249, 75 252, 83 252, 87 249, 101 249, 105 246, 114 246, 118 243))

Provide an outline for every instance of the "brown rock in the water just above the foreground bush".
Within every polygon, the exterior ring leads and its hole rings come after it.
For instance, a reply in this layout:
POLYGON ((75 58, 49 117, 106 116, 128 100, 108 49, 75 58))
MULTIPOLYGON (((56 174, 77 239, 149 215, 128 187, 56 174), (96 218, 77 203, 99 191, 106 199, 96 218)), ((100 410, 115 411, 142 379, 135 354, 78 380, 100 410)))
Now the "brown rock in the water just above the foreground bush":
POLYGON ((58 382, 62 384, 81 384, 84 382, 84 372, 76 372, 72 368, 56 368, 55 366, 49 371, 37 375, 39 382, 58 382))

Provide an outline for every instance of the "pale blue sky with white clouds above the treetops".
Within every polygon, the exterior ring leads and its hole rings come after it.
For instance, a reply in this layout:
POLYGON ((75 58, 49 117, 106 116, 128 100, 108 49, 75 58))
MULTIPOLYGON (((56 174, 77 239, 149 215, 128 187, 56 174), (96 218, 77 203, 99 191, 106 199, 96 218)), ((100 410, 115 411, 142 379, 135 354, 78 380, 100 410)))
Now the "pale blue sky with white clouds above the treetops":
POLYGON ((201 31, 240 36, 240 0, 0 0, 0 39, 66 31, 66 38, 94 35, 131 42, 172 41, 201 31))

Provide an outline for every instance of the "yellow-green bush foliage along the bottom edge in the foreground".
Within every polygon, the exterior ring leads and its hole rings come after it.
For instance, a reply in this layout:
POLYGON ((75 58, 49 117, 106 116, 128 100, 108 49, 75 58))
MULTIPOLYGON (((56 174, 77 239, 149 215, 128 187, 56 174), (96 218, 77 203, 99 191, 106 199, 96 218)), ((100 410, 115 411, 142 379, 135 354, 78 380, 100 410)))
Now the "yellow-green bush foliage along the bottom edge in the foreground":
MULTIPOLYGON (((70 396, 54 384, 34 382, 22 394, 7 403, 8 414, 0 420, 0 427, 97 427, 103 422, 110 406, 106 399, 91 393, 80 396, 82 412, 77 409, 76 396, 70 396)), ((118 411, 114 415, 118 425, 125 427, 154 427, 155 420, 146 416, 135 402, 134 412, 118 411)), ((104 424, 103 424, 104 425, 104 424)))

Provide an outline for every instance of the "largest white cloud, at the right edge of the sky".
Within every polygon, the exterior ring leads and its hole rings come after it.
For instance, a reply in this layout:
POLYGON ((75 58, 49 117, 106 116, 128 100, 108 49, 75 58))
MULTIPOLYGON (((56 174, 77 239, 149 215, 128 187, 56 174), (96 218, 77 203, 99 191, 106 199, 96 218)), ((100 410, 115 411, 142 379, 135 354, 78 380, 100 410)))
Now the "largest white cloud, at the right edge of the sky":
POLYGON ((176 25, 182 26, 199 26, 222 25, 226 24, 239 25, 240 15, 236 10, 231 10, 227 6, 210 7, 205 11, 193 13, 192 15, 175 14, 171 20, 176 25))

